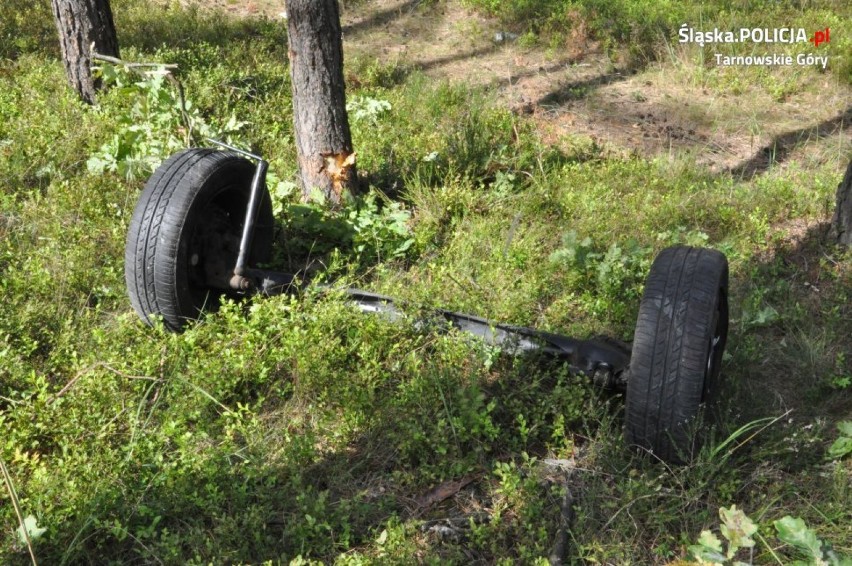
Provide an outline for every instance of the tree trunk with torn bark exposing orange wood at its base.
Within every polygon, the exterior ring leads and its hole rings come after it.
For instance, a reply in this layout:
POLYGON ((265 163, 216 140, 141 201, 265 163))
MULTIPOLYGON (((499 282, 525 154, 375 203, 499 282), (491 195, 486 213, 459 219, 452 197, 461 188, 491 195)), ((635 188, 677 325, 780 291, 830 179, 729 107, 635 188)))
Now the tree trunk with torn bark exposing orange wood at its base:
POLYGON ((334 205, 358 176, 343 83, 337 0, 287 0, 293 122, 302 195, 318 188, 334 205))

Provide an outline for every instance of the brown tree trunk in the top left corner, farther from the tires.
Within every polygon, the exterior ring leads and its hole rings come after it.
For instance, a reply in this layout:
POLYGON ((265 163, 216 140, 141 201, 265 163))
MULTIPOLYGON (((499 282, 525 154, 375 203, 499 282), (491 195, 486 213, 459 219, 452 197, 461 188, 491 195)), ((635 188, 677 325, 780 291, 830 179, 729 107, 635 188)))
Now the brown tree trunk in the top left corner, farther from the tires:
POLYGON ((85 102, 95 102, 92 44, 103 55, 118 57, 118 39, 109 0, 51 0, 68 82, 85 102))

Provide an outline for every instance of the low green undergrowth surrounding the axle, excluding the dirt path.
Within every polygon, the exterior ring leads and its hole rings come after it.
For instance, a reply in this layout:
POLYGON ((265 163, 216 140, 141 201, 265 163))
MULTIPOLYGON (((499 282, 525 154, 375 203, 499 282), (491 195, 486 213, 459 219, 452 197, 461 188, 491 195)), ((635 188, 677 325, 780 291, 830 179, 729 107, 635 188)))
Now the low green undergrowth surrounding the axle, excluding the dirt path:
MULTIPOLYGON (((15 4, 0 63, 0 458, 21 515, 46 528, 32 541, 39 562, 543 563, 566 489, 574 561, 678 560, 731 504, 761 525, 801 517, 852 554, 852 462, 826 456, 852 406, 852 255, 822 237, 847 145, 754 177, 570 135, 554 146, 491 91, 362 55, 347 68, 350 97, 390 104, 352 123, 375 192, 332 214, 288 185, 281 26, 113 7, 123 57, 178 63, 200 119, 221 128, 237 116, 236 140, 270 157, 278 265, 313 261, 326 280, 414 305, 630 340, 657 251, 723 250, 724 424, 670 468, 627 450, 623 400, 582 377, 365 317, 334 294, 227 303, 180 335, 143 327, 122 267, 142 180, 86 166, 135 95, 113 89, 97 109, 74 100, 39 39, 49 13, 15 4), (769 426, 727 442, 756 422, 769 426), (547 458, 577 469, 566 482, 547 458)), ((596 33, 616 46, 633 37, 596 33)), ((659 64, 720 90, 737 78, 677 63, 659 64)), ((739 80, 769 92, 784 77, 739 80)), ((796 81, 792 96, 807 83, 796 81)), ((0 562, 28 563, 0 497, 0 562)), ((795 556, 755 552, 754 563, 795 556)))

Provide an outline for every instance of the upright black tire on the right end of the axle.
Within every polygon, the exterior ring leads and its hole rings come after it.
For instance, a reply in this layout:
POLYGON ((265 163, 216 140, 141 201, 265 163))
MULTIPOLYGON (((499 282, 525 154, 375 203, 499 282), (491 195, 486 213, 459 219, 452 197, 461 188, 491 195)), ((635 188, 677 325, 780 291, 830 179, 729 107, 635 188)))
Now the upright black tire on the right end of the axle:
POLYGON ((627 382, 629 444, 670 463, 700 447, 694 434, 719 390, 728 336, 728 261, 677 246, 654 260, 639 306, 627 382))

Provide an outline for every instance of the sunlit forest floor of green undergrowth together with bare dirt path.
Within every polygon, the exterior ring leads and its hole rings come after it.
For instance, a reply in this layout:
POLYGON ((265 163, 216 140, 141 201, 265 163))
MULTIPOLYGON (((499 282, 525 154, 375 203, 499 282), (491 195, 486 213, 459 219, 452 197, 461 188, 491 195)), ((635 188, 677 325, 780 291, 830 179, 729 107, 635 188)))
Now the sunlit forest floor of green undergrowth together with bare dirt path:
POLYGON ((741 512, 759 526, 741 563, 852 556, 852 250, 826 237, 849 8, 341 0, 367 194, 333 207, 294 182, 283 0, 111 5, 122 57, 175 65, 181 89, 104 66, 82 104, 47 3, 0 20, 0 563, 31 563, 24 524, 45 564, 674 566, 745 544, 741 512), (828 68, 718 65, 752 46, 680 44, 681 18, 831 25, 819 50, 775 46, 828 68), (271 268, 411 319, 308 282, 143 324, 129 295, 152 291, 125 266, 156 251, 128 245, 132 215, 206 138, 269 160, 271 268), (724 253, 730 278, 719 418, 684 465, 625 438, 625 393, 413 322, 629 343, 678 245, 724 253))

